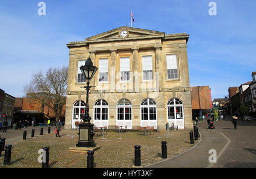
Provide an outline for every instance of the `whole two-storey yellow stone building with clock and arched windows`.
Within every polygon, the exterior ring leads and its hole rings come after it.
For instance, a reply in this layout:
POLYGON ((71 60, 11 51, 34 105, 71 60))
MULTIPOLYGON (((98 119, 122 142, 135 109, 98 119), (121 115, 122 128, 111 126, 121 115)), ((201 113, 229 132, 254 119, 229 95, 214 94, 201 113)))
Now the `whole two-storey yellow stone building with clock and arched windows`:
POLYGON ((85 79, 79 69, 90 57, 98 67, 90 82, 89 109, 97 127, 192 128, 187 33, 166 34, 119 27, 69 42, 66 127, 85 112, 85 79))

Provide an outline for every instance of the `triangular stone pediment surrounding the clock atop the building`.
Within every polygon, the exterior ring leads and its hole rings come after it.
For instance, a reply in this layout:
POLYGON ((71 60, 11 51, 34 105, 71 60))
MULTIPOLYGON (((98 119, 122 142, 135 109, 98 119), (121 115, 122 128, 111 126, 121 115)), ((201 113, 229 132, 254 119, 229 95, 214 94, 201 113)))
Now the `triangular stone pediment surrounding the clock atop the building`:
POLYGON ((119 27, 111 31, 100 33, 96 36, 85 39, 86 42, 97 42, 97 41, 113 41, 113 40, 132 40, 132 39, 144 39, 148 37, 164 37, 164 32, 151 31, 147 29, 139 29, 133 27, 119 27), (121 31, 127 31, 127 37, 121 37, 121 31))

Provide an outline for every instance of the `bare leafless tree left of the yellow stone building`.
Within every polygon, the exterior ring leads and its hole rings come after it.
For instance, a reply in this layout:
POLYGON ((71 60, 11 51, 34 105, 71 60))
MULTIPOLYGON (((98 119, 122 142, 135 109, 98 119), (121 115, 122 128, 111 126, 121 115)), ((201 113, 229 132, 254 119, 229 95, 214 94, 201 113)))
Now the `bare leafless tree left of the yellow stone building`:
POLYGON ((29 84, 24 87, 24 92, 31 96, 36 103, 49 106, 56 120, 59 120, 61 110, 66 103, 66 92, 68 82, 68 67, 49 68, 32 74, 29 84))

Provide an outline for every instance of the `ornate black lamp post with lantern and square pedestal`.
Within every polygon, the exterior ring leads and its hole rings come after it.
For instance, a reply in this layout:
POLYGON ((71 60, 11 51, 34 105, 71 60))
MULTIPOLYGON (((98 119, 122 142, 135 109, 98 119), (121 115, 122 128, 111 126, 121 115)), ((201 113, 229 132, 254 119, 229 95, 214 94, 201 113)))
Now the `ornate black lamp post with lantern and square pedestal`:
POLYGON ((93 62, 90 57, 86 60, 85 65, 80 67, 82 74, 86 80, 87 85, 86 89, 86 106, 85 106, 85 116, 82 117, 83 123, 79 125, 79 142, 76 144, 77 147, 96 147, 93 141, 93 126, 94 124, 90 123, 92 117, 89 115, 89 90, 92 86, 89 86, 90 80, 92 80, 98 68, 93 66, 93 62))

